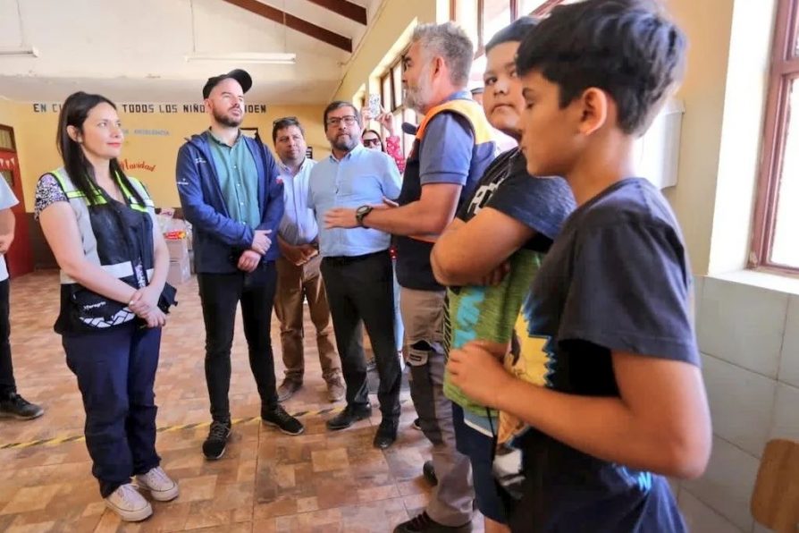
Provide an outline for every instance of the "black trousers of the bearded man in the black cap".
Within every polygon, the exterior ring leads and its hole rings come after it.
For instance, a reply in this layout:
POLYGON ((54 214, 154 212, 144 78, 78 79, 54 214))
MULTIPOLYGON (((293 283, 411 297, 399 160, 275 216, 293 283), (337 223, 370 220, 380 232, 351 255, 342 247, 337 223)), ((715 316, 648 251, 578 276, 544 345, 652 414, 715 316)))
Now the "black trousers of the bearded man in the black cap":
POLYGON ((200 301, 206 323, 206 384, 211 417, 230 420, 231 346, 236 307, 241 301, 249 368, 261 395, 261 410, 277 407, 272 353, 272 306, 277 284, 274 261, 261 263, 249 274, 198 274, 200 301))

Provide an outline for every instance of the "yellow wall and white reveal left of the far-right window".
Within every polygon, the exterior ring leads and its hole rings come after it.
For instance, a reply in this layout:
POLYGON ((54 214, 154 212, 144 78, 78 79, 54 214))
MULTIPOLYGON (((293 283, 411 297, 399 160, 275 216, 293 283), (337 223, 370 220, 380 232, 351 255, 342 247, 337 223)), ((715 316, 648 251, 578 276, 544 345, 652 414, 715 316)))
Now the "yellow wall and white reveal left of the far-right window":
POLYGON ((776 0, 669 0, 688 37, 677 187, 694 274, 746 267, 776 0))

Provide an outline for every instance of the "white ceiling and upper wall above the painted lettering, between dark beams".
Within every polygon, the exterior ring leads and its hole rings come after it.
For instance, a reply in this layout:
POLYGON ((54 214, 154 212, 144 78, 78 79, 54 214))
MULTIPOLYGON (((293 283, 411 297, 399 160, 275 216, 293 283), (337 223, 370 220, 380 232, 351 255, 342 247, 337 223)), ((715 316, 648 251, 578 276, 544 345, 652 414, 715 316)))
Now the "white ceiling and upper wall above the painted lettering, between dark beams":
POLYGON ((281 10, 290 26, 309 22, 351 39, 356 50, 382 2, 0 0, 0 48, 38 50, 36 58, 0 56, 0 96, 50 102, 86 90, 118 101, 192 103, 202 100, 209 76, 244 68, 253 78, 249 102, 321 104, 339 86, 351 52, 245 7, 281 10), (341 14, 345 7, 360 11, 358 6, 366 9, 366 25, 341 14), (185 60, 192 53, 247 52, 295 53, 297 63, 185 60))

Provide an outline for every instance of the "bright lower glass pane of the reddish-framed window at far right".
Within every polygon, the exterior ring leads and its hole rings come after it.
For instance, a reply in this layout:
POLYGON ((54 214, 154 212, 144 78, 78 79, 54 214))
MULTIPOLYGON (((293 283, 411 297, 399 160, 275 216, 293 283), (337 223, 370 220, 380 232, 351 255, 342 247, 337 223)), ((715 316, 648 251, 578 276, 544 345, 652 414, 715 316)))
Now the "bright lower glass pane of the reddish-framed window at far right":
POLYGON ((799 246, 796 245, 796 228, 799 227, 799 79, 791 83, 786 123, 786 142, 779 176, 777 220, 771 262, 789 267, 799 267, 799 246))

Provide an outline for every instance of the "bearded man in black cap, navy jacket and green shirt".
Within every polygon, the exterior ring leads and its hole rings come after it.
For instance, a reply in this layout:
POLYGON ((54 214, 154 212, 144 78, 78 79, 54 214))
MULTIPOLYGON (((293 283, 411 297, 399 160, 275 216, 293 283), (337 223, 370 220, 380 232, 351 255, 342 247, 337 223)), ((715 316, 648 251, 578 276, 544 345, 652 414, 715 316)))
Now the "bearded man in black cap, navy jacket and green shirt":
POLYGON ((277 402, 269 331, 277 280, 273 245, 283 215, 280 171, 260 140, 241 134, 247 72, 209 78, 203 88, 208 130, 178 152, 177 184, 186 220, 194 227, 194 261, 206 323, 206 383, 211 429, 203 453, 223 456, 231 435, 228 392, 236 307, 241 302, 249 366, 261 396, 261 419, 283 433, 304 427, 277 402))

